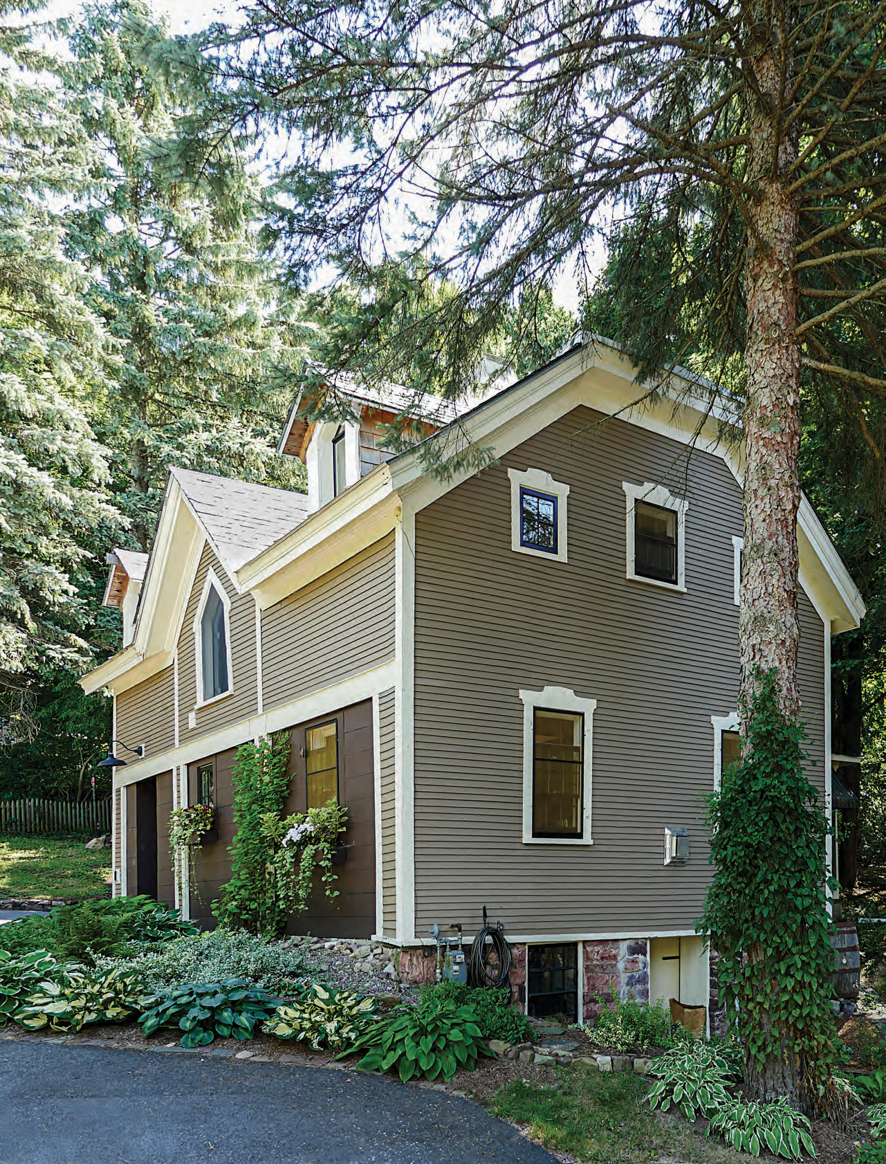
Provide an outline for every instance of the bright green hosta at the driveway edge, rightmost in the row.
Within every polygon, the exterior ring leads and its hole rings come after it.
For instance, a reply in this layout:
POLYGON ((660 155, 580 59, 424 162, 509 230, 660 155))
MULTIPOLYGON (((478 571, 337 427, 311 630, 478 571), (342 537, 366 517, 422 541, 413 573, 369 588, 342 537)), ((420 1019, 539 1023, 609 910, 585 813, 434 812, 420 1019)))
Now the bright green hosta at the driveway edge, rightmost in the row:
POLYGON ((456 1006, 450 999, 398 1007, 359 1038, 353 1049, 365 1051, 357 1064, 359 1070, 396 1069, 403 1083, 421 1076, 451 1079, 459 1067, 473 1071, 479 1055, 492 1055, 474 1012, 456 1006))

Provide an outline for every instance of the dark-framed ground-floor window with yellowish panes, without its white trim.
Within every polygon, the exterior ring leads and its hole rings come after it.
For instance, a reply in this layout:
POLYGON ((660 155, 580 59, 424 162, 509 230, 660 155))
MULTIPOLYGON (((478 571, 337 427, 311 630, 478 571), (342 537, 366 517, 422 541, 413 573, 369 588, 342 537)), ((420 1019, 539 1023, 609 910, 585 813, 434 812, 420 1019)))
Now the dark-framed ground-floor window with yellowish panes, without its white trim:
POLYGON ((533 836, 580 837, 585 717, 536 708, 533 722, 533 836))

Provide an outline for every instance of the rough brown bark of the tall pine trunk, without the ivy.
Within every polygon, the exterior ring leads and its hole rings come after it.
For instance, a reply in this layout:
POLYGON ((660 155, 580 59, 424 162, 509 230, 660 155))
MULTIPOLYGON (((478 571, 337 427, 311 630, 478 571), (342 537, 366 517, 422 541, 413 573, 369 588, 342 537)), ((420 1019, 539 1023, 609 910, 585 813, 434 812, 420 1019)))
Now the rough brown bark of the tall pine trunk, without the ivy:
MULTIPOLYGON (((763 6, 756 15, 762 40, 753 61, 759 98, 749 158, 749 178, 757 197, 750 204, 752 225, 744 268, 748 403, 738 615, 741 705, 746 707, 760 673, 774 672, 781 710, 793 717, 800 707, 800 352, 795 336, 799 293, 793 271, 799 215, 788 192, 788 171, 796 147, 777 125, 781 73, 774 16, 763 6)), ((749 957, 766 954, 756 949, 749 951, 749 957)), ((776 973, 773 970, 773 978, 776 973)), ((788 1049, 785 1031, 772 1034, 774 1050, 765 1062, 758 1064, 750 1057, 746 1060, 746 1093, 760 1100, 786 1095, 802 1106, 803 1064, 788 1049)))

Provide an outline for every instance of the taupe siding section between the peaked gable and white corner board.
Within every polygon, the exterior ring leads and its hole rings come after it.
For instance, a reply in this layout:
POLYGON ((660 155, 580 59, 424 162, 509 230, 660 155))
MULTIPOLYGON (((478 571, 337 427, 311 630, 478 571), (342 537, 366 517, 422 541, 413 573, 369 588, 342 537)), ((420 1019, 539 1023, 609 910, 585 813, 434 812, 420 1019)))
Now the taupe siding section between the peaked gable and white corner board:
POLYGON ((262 615, 265 710, 394 654, 394 535, 262 615))

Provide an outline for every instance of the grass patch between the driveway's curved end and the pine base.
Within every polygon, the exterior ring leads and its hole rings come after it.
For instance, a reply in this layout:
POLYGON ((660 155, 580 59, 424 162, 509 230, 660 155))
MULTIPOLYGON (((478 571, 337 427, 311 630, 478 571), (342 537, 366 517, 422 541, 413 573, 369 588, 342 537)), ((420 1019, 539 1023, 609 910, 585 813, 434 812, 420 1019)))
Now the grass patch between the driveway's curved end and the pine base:
POLYGON ((564 1069, 556 1087, 515 1080, 495 1093, 490 1110, 528 1124, 551 1151, 594 1164, 640 1164, 663 1157, 687 1164, 735 1164, 736 1154, 679 1117, 651 1112, 649 1083, 638 1076, 564 1069))

